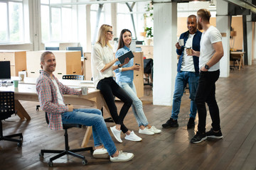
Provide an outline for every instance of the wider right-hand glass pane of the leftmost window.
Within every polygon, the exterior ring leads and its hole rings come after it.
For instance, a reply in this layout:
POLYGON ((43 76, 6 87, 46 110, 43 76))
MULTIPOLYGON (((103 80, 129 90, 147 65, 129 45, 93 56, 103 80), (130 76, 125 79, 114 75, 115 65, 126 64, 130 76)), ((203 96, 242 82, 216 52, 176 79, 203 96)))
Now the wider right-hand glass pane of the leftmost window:
POLYGON ((23 41, 23 8, 21 3, 9 2, 9 31, 11 42, 23 41))

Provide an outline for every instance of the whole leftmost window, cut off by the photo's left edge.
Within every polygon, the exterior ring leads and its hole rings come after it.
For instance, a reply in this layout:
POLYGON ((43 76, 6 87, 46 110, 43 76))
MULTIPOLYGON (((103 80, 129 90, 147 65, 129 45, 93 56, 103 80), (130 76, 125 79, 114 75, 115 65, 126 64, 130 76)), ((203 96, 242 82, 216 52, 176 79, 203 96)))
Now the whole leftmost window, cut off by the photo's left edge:
POLYGON ((0 43, 23 42, 22 1, 0 1, 0 43))

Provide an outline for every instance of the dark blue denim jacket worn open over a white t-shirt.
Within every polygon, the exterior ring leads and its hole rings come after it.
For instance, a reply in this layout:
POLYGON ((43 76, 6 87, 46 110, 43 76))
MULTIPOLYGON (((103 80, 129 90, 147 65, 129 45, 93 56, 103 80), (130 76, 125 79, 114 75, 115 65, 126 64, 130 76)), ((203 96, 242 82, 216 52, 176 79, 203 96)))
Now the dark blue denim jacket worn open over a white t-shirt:
MULTIPOLYGON (((180 39, 184 39, 184 45, 186 45, 186 41, 188 40, 188 34, 189 32, 186 31, 185 33, 182 33, 180 36, 180 39)), ((196 33, 193 36, 193 42, 192 42, 192 49, 195 51, 200 51, 201 36, 202 36, 202 33, 199 30, 196 30, 196 33)), ((181 55, 181 57, 178 60, 178 68, 177 68, 177 72, 181 72, 184 46, 182 46, 181 49, 176 49, 176 52, 177 52, 177 55, 181 55)), ((196 73, 199 73, 199 57, 193 56, 193 63, 194 63, 196 73)))

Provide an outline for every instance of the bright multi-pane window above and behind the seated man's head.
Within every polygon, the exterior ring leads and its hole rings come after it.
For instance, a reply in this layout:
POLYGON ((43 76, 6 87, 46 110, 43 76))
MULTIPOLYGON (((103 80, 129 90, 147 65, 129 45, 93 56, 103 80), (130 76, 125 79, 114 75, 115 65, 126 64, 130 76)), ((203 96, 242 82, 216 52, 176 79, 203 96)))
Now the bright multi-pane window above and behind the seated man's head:
POLYGON ((50 6, 61 1, 41 1, 41 31, 43 42, 70 42, 76 37, 76 27, 72 27, 71 6, 50 6), (75 35, 74 35, 75 34, 75 35))

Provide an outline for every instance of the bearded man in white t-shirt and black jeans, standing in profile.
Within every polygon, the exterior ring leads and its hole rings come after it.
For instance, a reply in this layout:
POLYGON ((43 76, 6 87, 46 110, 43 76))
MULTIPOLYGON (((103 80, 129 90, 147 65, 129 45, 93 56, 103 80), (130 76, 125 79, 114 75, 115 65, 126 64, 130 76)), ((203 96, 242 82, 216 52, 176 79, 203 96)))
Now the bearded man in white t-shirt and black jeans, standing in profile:
POLYGON ((220 113, 215 99, 215 82, 220 76, 220 59, 223 57, 223 44, 220 31, 210 26, 210 11, 197 11, 198 29, 204 30, 201 38, 200 52, 192 50, 192 55, 199 57, 200 78, 196 91, 196 106, 198 108, 198 132, 191 143, 199 143, 208 137, 221 139, 220 113), (206 132, 206 103, 209 107, 212 128, 206 132))

